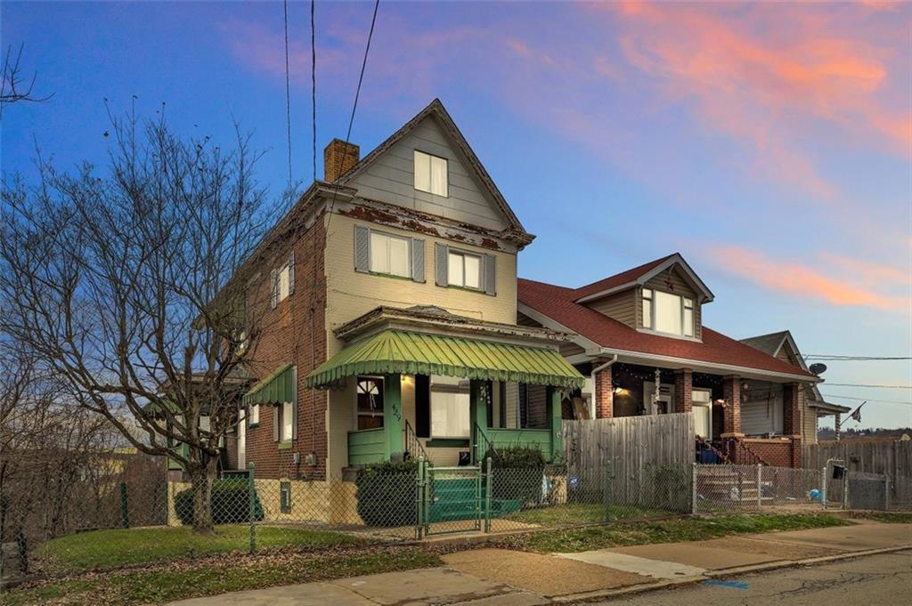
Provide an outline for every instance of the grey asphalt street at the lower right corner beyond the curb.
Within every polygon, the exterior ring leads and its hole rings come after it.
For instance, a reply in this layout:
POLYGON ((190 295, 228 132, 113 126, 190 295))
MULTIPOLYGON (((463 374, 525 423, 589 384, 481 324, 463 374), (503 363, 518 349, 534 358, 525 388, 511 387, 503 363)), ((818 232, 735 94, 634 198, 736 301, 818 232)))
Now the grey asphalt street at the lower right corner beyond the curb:
POLYGON ((637 606, 912 604, 912 550, 770 570, 597 602, 637 606))

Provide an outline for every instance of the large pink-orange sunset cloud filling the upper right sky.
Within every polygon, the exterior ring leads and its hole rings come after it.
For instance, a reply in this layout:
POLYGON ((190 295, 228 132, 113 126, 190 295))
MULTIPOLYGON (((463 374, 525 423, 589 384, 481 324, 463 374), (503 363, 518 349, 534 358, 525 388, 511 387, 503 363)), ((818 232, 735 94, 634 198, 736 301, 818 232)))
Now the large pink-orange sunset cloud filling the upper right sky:
POLYGON ((908 105, 891 106, 886 90, 891 65, 893 87, 907 86, 908 56, 896 56, 889 44, 907 30, 901 17, 875 27, 859 22, 851 6, 599 7, 620 20, 630 65, 655 78, 669 101, 695 103, 706 128, 749 145, 767 178, 823 199, 836 195, 803 145, 815 122, 912 155, 908 105))

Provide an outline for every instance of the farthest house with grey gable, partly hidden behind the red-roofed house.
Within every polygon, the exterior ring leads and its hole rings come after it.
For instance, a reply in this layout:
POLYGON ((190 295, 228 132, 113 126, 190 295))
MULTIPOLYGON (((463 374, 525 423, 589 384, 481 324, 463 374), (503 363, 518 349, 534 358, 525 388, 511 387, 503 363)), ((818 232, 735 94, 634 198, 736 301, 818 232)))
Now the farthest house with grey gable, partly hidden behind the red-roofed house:
MULTIPOLYGON (((807 365, 804 363, 804 358, 798 350, 798 345, 795 344, 792 333, 789 331, 752 336, 748 339, 741 339, 741 343, 751 345, 754 349, 758 349, 764 354, 772 355, 783 362, 808 370, 807 365)), ((802 443, 816 444, 817 420, 822 416, 835 416, 836 426, 838 426, 840 416, 848 413, 851 408, 824 402, 824 397, 820 395, 820 390, 816 384, 807 385, 803 393, 804 406, 801 411, 802 443)), ((772 412, 777 411, 778 406, 772 408, 772 412)), ((751 414, 750 421, 745 422, 744 431, 748 434, 766 433, 767 431, 779 430, 781 425, 780 420, 775 416, 766 413, 766 411, 757 410, 751 414)))

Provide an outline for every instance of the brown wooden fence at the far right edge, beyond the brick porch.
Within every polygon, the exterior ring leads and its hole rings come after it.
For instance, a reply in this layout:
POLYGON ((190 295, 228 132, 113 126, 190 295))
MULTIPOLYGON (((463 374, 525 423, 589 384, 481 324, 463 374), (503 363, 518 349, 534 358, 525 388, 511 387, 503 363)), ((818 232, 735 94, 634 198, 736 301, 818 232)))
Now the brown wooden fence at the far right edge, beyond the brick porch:
POLYGON ((897 508, 912 507, 912 442, 821 442, 803 448, 803 467, 821 469, 827 459, 845 462, 852 471, 886 474, 890 477, 891 504, 897 508))

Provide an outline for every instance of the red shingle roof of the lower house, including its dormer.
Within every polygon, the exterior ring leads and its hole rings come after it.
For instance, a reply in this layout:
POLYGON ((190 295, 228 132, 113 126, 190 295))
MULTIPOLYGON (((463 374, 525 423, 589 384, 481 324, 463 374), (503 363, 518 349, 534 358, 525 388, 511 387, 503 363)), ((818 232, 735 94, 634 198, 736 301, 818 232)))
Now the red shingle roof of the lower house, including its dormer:
MULTIPOLYGON (((664 259, 658 260, 658 262, 662 261, 664 259)), ((658 264, 658 262, 652 263, 658 264)), ((647 263, 647 265, 649 264, 647 263)), ((648 272, 648 269, 644 269, 647 265, 630 270, 630 272, 648 272)), ((619 273, 617 276, 630 272, 619 273)), ((608 280, 613 280, 617 276, 608 278, 608 280)), ((636 279, 636 276, 627 278, 627 280, 630 279, 636 279)), ((580 296, 580 289, 564 288, 523 278, 518 280, 518 289, 517 297, 520 303, 528 305, 539 313, 544 313, 554 322, 563 324, 568 329, 603 347, 815 378, 814 375, 798 366, 782 362, 750 345, 742 344, 724 334, 717 333, 705 325, 701 342, 641 333, 627 324, 589 309, 586 305, 574 303, 575 299, 580 296)), ((599 288, 594 292, 599 290, 604 290, 604 288, 599 288)))

